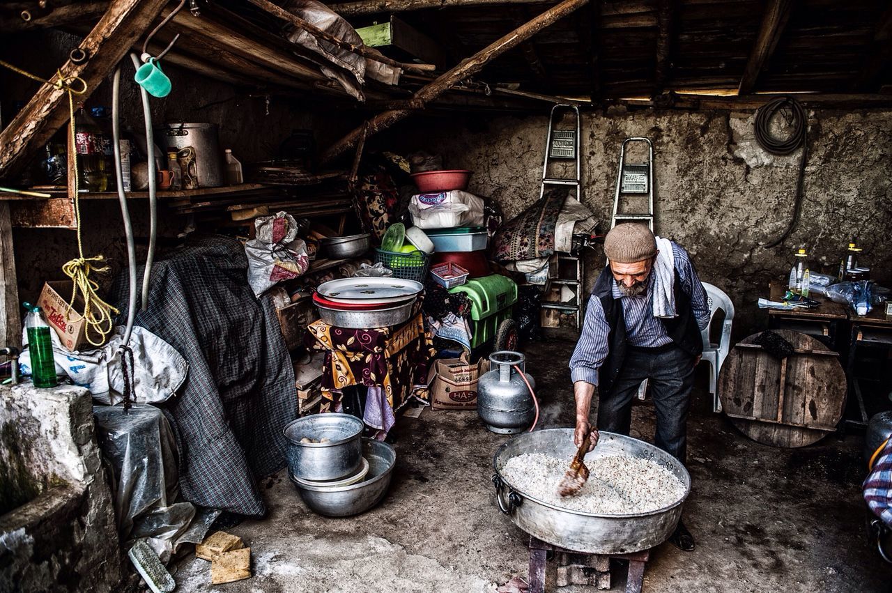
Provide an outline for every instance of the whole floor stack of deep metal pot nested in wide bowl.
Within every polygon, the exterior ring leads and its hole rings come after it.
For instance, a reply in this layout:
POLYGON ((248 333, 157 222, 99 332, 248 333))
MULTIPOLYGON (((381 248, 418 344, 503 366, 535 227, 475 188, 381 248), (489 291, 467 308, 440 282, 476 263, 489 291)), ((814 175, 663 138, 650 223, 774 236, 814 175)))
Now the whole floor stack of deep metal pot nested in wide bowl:
POLYGON ((319 515, 359 515, 384 498, 396 451, 361 437, 364 424, 349 414, 315 414, 285 426, 288 477, 319 515))

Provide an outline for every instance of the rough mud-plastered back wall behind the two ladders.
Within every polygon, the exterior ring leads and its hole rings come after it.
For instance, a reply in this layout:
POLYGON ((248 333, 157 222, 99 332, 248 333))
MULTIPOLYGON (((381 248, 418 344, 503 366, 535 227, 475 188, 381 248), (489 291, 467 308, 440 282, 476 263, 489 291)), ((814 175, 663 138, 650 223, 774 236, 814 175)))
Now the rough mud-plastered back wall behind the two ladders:
MULTIPOLYGON (((546 112, 547 107, 542 111, 546 112)), ((753 112, 636 111, 585 114, 582 202, 610 222, 619 148, 648 136, 656 150, 657 234, 686 247, 702 279, 731 294, 738 336, 766 323, 756 309, 767 283, 785 277, 794 249, 838 266, 863 243, 873 277, 892 280, 892 111, 810 111, 805 199, 797 229, 773 249, 791 216, 800 152, 773 156, 755 142, 753 112)), ((470 190, 508 218, 539 196, 546 117, 414 119, 379 140, 402 152, 439 152, 446 169, 472 169, 470 190)), ((589 261, 588 284, 603 265, 589 261)))

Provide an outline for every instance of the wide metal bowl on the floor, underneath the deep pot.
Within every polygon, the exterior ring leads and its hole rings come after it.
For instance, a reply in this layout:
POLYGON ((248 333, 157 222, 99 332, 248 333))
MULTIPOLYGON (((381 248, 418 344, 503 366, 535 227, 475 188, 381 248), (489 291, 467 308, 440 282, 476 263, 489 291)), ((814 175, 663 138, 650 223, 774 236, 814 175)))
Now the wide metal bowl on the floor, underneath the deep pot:
POLYGON ((359 515, 378 504, 390 486, 396 451, 385 442, 362 440, 362 452, 368 460, 368 475, 362 482, 331 488, 310 486, 293 479, 294 487, 310 510, 329 517, 359 515))

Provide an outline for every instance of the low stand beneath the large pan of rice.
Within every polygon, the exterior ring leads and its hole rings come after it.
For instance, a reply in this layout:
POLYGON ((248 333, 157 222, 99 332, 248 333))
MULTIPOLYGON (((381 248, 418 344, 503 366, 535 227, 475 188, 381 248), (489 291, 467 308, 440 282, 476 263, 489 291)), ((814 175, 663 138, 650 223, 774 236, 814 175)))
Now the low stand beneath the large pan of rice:
POLYGON ((610 589, 610 560, 625 560, 629 572, 625 581, 625 593, 640 593, 644 583, 644 569, 650 558, 650 550, 633 554, 586 554, 559 548, 530 536, 530 593, 545 593, 545 567, 548 553, 558 559, 558 587, 589 585, 598 589, 610 589))

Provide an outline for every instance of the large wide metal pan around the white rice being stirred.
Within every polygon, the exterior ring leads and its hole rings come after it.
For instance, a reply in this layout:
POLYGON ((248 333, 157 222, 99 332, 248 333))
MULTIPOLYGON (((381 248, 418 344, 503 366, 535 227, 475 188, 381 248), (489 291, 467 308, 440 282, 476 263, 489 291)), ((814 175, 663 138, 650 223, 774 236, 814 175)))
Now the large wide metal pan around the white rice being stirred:
POLYGON ((586 460, 625 455, 648 459, 672 472, 684 485, 684 495, 668 507, 629 515, 582 513, 555 507, 518 490, 501 474, 511 457, 541 453, 570 459, 576 453, 572 428, 527 432, 503 444, 492 457, 496 501, 517 527, 549 544, 586 554, 631 554, 653 548, 672 535, 681 519, 681 506, 690 493, 684 465, 664 450, 632 437, 601 432, 598 446, 586 460))

